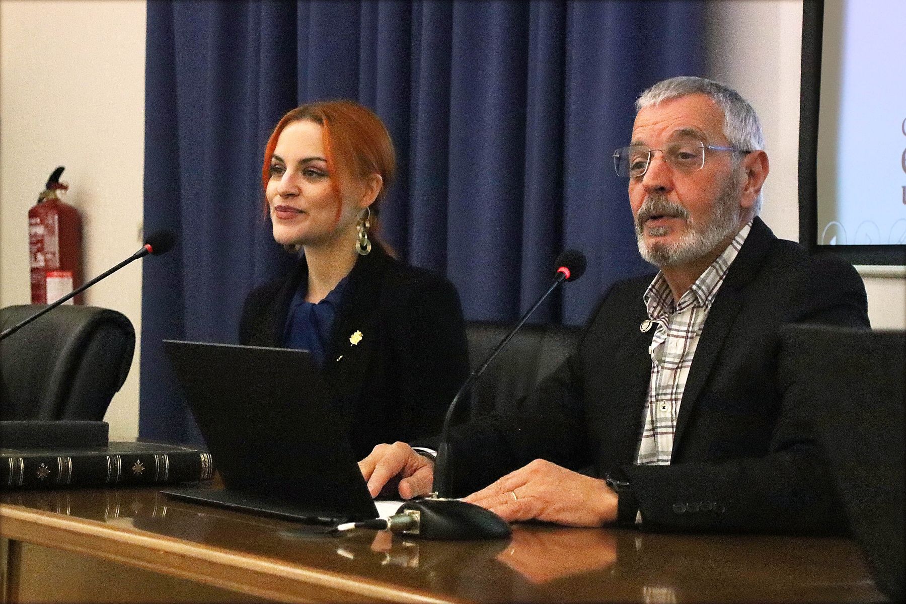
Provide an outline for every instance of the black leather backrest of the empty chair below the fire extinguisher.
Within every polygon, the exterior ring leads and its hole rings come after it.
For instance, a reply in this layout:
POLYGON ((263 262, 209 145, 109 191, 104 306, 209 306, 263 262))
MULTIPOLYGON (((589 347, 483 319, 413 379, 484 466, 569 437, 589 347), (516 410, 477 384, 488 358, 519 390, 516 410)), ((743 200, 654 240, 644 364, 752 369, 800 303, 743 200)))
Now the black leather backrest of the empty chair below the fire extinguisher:
MULTIPOLYGON (((0 330, 41 309, 0 310, 0 330)), ((135 330, 121 312, 64 304, 0 341, 0 418, 100 421, 134 351, 135 330)))

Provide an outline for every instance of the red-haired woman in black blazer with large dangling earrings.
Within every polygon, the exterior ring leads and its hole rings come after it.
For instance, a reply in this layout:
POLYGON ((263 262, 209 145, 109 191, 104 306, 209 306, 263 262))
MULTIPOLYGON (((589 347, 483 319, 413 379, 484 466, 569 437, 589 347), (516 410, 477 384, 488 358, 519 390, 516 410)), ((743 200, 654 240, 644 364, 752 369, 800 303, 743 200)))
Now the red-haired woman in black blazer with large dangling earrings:
POLYGON ((468 373, 456 288, 401 263, 378 236, 395 158, 381 120, 352 101, 284 115, 265 148, 265 211, 298 264, 246 298, 239 340, 310 350, 363 458, 436 434, 468 373))

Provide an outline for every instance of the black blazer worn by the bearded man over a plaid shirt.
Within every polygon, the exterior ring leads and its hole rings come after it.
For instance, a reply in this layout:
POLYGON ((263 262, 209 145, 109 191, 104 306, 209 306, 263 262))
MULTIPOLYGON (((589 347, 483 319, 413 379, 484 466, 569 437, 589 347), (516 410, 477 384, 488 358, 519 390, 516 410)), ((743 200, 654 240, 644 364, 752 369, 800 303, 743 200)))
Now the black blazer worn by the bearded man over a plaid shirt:
POLYGON ((801 401, 778 368, 785 323, 867 328, 862 279, 830 254, 777 239, 758 218, 708 313, 679 407, 670 465, 633 465, 654 330, 642 296, 652 275, 613 285, 578 349, 516 417, 454 430, 458 491, 535 458, 593 475, 622 468, 643 528, 836 532, 843 514, 801 401))

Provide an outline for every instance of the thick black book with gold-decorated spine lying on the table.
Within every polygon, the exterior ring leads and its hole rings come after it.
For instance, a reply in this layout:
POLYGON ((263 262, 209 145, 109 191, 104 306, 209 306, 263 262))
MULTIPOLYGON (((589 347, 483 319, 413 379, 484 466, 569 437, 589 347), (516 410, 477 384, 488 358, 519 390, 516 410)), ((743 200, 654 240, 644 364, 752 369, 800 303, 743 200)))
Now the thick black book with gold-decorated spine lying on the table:
POLYGON ((0 489, 171 484, 214 477, 211 455, 191 446, 118 443, 0 448, 0 489))

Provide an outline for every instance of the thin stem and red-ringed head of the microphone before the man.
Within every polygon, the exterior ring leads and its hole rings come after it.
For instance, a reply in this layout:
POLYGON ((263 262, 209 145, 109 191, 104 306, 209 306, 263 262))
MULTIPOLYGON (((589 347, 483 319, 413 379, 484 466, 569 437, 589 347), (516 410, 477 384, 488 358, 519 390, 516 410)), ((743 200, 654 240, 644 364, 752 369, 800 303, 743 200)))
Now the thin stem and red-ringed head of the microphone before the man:
POLYGON ((522 318, 516 323, 516 326, 506 334, 506 337, 501 340, 497 347, 487 356, 487 359, 481 363, 472 371, 471 375, 468 376, 465 383, 463 383, 462 388, 459 388, 459 391, 456 393, 456 396, 453 397, 453 402, 450 403, 450 406, 447 409, 447 416, 444 417, 444 427, 440 432, 440 445, 438 447, 438 456, 434 463, 434 484, 432 484, 431 491, 433 491, 432 496, 438 499, 447 499, 451 496, 452 484, 450 477, 450 422, 453 419, 453 411, 456 409, 456 406, 459 403, 459 400, 463 398, 467 392, 472 388, 478 378, 481 377, 481 374, 485 372, 487 366, 491 363, 492 360, 497 356, 497 353, 500 350, 503 350, 506 343, 509 342, 516 335, 516 331, 519 331, 519 328, 522 327, 523 323, 528 319, 528 317, 535 312, 535 309, 541 305, 541 302, 545 301, 548 295, 554 291, 557 285, 564 283, 564 281, 575 281, 583 275, 585 272, 585 254, 578 250, 564 250, 556 260, 556 273, 554 273, 554 283, 551 283, 551 286, 547 288, 547 291, 541 294, 541 297, 532 305, 532 308, 528 309, 522 318))

